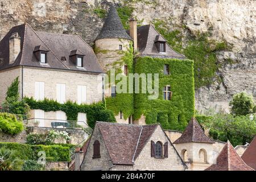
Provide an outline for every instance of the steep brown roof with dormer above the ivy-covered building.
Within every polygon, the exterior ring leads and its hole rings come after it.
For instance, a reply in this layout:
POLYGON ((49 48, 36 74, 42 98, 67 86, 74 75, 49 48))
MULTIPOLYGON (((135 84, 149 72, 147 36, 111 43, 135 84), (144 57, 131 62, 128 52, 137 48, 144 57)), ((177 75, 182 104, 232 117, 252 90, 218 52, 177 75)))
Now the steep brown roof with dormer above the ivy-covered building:
MULTIPOLYGON (((130 31, 126 31, 130 35, 130 31)), ((166 52, 159 52, 155 46, 155 42, 167 42, 166 39, 155 29, 152 24, 137 27, 138 51, 140 56, 171 58, 171 59, 187 59, 184 55, 174 51, 166 43, 166 52)))

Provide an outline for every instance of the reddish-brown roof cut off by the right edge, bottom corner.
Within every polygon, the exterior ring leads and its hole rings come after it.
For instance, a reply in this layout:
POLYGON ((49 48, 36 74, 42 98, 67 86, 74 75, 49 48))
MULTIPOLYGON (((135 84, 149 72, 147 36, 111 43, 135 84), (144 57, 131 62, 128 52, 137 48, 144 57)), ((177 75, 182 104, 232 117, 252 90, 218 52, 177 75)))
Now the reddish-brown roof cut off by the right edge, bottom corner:
POLYGON ((243 152, 241 158, 248 166, 256 170, 256 136, 253 141, 251 141, 246 151, 243 152))

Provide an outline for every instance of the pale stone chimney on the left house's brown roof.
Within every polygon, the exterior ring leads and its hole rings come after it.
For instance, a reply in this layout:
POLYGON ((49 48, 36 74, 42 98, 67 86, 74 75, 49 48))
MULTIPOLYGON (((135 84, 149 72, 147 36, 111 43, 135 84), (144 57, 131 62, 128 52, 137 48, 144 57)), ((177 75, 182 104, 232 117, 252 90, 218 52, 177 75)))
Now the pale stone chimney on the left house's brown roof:
POLYGON ((9 64, 13 64, 20 52, 20 36, 17 32, 11 34, 9 50, 9 64))

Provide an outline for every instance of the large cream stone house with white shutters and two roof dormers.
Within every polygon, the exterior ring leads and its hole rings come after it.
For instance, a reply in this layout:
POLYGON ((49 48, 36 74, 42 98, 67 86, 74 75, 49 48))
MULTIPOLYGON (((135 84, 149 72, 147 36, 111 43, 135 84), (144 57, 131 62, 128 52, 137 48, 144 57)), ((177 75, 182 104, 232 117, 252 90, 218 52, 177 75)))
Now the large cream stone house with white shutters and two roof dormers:
MULTIPOLYGON (((34 31, 29 24, 11 28, 0 42, 0 103, 11 82, 19 77, 19 96, 56 100, 64 104, 102 101, 103 71, 93 49, 77 35, 34 31)), ((40 127, 55 119, 65 122, 63 111, 32 110, 40 127)), ((86 123, 86 113, 78 119, 86 123)))

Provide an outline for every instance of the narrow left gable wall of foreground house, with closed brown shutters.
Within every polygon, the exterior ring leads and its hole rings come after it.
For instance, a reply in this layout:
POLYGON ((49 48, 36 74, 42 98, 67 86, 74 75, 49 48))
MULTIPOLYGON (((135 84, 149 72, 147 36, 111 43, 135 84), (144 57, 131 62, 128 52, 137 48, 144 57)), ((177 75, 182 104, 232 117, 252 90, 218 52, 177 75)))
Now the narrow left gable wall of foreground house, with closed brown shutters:
POLYGON ((84 157, 84 161, 81 165, 81 171, 108 171, 113 167, 112 160, 110 159, 108 149, 105 146, 104 140, 101 137, 98 126, 94 128, 90 143, 87 148, 87 152, 84 157), (100 158, 93 159, 93 143, 95 140, 100 142, 100 158))

